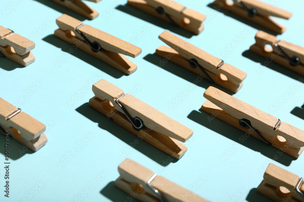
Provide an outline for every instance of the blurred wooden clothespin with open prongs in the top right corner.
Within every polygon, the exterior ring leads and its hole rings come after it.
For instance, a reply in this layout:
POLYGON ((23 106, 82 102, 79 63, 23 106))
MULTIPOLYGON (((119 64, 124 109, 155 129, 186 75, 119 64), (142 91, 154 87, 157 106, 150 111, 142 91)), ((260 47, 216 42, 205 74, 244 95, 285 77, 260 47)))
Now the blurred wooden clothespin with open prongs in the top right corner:
POLYGON ((282 34, 286 30, 286 27, 271 19, 270 16, 283 18, 286 20, 292 16, 291 12, 257 0, 232 1, 233 3, 230 3, 228 0, 216 0, 213 2, 213 4, 219 6, 219 9, 223 8, 231 11, 242 18, 250 20, 279 34, 282 34))

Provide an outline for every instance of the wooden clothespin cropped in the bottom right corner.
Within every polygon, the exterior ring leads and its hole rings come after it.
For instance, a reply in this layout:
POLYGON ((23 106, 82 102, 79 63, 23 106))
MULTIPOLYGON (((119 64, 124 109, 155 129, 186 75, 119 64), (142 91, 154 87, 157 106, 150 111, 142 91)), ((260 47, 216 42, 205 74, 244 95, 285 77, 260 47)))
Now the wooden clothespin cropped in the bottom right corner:
POLYGON ((277 202, 304 202, 303 178, 269 164, 257 192, 277 202))

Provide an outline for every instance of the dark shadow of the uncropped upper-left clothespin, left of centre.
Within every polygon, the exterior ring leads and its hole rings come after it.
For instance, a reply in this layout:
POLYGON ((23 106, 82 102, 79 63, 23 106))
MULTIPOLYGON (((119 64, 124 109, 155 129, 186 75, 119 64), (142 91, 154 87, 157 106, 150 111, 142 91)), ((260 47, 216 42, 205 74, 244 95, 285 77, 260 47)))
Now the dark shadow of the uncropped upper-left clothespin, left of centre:
POLYGON ((86 63, 94 66, 95 68, 98 68, 99 70, 105 72, 108 75, 111 75, 114 78, 120 78, 123 75, 126 75, 123 72, 117 70, 116 68, 113 68, 111 65, 108 65, 107 63, 98 60, 97 58, 86 53, 85 51, 82 51, 80 48, 75 49, 71 44, 61 40, 60 38, 57 38, 54 34, 48 35, 42 40, 56 46, 57 48, 61 48, 62 51, 67 52, 85 61, 86 63), (73 52, 70 52, 70 49, 72 49, 73 52))

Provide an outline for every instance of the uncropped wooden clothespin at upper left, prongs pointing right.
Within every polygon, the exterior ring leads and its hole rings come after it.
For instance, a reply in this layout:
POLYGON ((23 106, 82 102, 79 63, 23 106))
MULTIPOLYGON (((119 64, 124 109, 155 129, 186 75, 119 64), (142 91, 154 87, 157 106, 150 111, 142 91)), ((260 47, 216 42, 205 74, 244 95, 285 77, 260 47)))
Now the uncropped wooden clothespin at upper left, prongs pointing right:
POLYGON ((93 55, 105 63, 130 75, 137 66, 123 55, 132 58, 141 53, 141 49, 99 29, 84 25, 81 21, 63 14, 56 19, 59 29, 55 35, 81 50, 93 55))

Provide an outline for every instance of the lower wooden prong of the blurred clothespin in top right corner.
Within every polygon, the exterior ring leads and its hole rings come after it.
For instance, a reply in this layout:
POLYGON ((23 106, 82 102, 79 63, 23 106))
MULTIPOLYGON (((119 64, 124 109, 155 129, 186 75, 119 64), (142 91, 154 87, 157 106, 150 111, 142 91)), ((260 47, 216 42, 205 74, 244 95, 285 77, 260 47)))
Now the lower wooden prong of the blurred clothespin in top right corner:
MULTIPOLYGON (((236 2, 235 0, 233 0, 233 2, 236 2)), ((247 3, 250 3, 250 1, 246 1, 244 2, 245 4, 247 3)), ((276 22, 275 20, 271 19, 270 18, 270 12, 269 12, 269 15, 265 16, 265 15, 257 15, 255 17, 250 17, 248 15, 248 12, 246 10, 244 10, 243 7, 241 7, 240 5, 238 5, 238 3, 234 3, 233 5, 230 5, 228 3, 228 1, 223 1, 223 0, 216 0, 213 2, 214 5, 217 5, 217 6, 220 6, 221 8, 225 9, 225 10, 228 10, 228 11, 231 11, 239 16, 241 16, 242 18, 245 18, 247 20, 250 20, 254 23, 257 23, 265 28, 268 28, 269 30, 271 31, 274 31, 274 32, 277 32, 279 34, 282 34, 285 30, 286 30, 286 27, 284 27, 283 25, 281 25, 280 23, 276 22)), ((255 6, 258 6, 259 3, 256 3, 255 6)), ((270 8, 271 5, 269 5, 270 8)), ((263 13, 263 12, 262 12, 263 13)), ((284 15, 282 15, 282 17, 286 17, 285 15, 286 13, 284 12, 284 15)))

